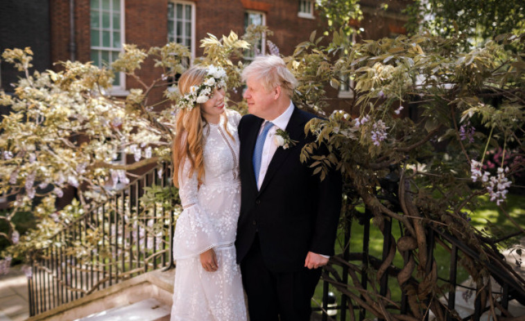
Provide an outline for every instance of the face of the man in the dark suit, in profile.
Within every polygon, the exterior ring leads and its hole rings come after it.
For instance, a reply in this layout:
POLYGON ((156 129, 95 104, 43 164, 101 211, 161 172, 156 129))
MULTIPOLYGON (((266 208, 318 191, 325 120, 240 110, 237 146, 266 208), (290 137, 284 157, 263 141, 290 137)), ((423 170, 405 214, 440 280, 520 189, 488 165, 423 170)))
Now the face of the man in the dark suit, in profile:
POLYGON ((253 78, 246 80, 246 86, 243 98, 248 103, 248 112, 262 119, 268 119, 273 114, 272 110, 278 96, 275 90, 267 92, 261 82, 253 78))

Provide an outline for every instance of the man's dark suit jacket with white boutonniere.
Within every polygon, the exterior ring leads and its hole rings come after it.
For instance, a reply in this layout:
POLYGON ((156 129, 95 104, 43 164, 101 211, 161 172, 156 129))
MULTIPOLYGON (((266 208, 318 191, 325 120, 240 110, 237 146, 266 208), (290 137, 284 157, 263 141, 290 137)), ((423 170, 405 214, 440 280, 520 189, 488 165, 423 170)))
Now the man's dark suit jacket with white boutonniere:
POLYGON ((266 268, 274 272, 300 270, 308 251, 334 254, 341 213, 341 175, 331 171, 321 182, 308 164, 300 162, 302 146, 313 140, 311 135, 304 135, 304 125, 313 117, 294 107, 286 132, 298 143, 287 149, 277 148, 260 191, 252 155, 264 120, 253 115, 241 119, 241 213, 235 241, 239 263, 256 232, 266 268))

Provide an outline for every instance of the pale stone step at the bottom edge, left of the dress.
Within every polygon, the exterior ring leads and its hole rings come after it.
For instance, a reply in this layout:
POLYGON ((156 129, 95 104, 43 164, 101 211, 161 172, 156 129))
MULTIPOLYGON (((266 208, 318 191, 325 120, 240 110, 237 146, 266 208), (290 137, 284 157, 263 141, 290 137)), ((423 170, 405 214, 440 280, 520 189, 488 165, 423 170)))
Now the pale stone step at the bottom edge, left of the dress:
POLYGON ((75 321, 141 320, 169 321, 171 307, 151 298, 88 315, 75 321))

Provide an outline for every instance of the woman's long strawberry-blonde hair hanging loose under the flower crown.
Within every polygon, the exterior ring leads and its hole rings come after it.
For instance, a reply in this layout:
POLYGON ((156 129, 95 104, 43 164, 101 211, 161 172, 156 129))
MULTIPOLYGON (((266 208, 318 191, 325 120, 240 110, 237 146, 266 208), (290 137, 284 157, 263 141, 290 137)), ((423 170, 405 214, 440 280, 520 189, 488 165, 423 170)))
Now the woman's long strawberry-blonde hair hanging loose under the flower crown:
MULTIPOLYGON (((203 83, 206 74, 207 68, 201 66, 193 66, 184 71, 178 83, 180 95, 187 94, 191 86, 203 83)), ((233 139, 232 134, 227 130, 227 122, 227 115, 224 114, 224 129, 233 139)), ((191 164, 188 177, 197 172, 198 183, 203 182, 205 175, 203 151, 207 124, 203 112, 201 112, 201 104, 196 104, 191 110, 186 108, 179 110, 175 116, 175 139, 173 139, 172 155, 173 184, 177 187, 179 186, 179 175, 182 173, 182 166, 184 166, 186 159, 189 159, 191 164)))

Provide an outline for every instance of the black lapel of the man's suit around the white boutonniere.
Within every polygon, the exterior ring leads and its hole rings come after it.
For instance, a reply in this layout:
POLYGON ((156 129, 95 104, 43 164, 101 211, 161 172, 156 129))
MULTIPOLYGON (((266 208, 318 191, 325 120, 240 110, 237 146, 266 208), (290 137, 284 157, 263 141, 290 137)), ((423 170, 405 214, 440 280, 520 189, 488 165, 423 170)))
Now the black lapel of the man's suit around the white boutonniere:
MULTIPOLYGON (((290 117, 290 121, 288 122, 288 125, 286 125, 286 132, 289 133, 290 139, 293 139, 295 141, 301 141, 302 140, 301 137, 304 136, 304 123, 302 122, 302 118, 300 117, 300 113, 297 107, 293 107, 292 116, 290 117)), ((264 191, 266 186, 268 186, 268 182, 270 182, 273 175, 277 173, 277 170, 283 164, 286 157, 290 155, 292 149, 293 147, 287 148, 287 149, 278 147, 277 150, 275 150, 275 154, 273 155, 272 160, 270 161, 270 164, 268 165, 268 170, 266 171, 266 175, 264 175, 264 180, 261 184, 261 189, 259 189, 259 194, 262 193, 262 191, 264 191)), ((253 152, 253 148, 252 148, 252 152, 253 152)), ((253 165, 252 165, 252 168, 253 168, 253 165)), ((255 174, 254 174, 254 181, 255 181, 255 174)))

